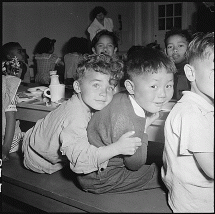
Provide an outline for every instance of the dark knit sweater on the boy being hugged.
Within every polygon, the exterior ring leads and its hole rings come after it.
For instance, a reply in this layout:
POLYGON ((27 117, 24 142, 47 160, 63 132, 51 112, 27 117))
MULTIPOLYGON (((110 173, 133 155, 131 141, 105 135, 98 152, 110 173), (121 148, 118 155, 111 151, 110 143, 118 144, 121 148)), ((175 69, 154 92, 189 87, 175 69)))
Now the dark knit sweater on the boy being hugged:
POLYGON ((96 112, 88 125, 89 142, 97 147, 115 143, 124 133, 135 131, 142 146, 132 156, 119 155, 109 160, 108 167, 126 166, 138 170, 146 163, 148 136, 144 133, 145 118, 135 114, 127 92, 114 95, 113 100, 101 111, 96 112))

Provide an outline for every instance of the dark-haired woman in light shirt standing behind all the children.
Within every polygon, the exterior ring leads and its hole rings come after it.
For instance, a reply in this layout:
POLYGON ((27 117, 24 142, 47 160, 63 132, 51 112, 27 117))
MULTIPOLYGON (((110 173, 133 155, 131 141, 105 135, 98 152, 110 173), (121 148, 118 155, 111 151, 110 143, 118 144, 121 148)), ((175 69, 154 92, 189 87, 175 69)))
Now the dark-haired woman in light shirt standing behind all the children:
POLYGON ((106 18, 106 15, 107 11, 103 7, 97 6, 92 10, 90 14, 92 23, 87 29, 91 41, 100 30, 106 29, 111 32, 113 31, 113 20, 111 18, 106 18))

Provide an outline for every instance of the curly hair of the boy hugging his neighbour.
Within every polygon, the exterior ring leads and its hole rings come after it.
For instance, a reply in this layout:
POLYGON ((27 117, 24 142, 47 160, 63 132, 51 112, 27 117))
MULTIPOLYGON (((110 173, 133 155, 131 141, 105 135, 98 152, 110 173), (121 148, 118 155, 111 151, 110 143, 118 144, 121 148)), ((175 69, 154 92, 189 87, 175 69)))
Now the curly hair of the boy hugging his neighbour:
POLYGON ((85 54, 79 60, 75 79, 81 81, 86 70, 93 70, 95 72, 109 74, 111 80, 114 80, 111 84, 117 85, 118 81, 123 77, 123 67, 123 61, 117 57, 111 57, 106 54, 85 54))

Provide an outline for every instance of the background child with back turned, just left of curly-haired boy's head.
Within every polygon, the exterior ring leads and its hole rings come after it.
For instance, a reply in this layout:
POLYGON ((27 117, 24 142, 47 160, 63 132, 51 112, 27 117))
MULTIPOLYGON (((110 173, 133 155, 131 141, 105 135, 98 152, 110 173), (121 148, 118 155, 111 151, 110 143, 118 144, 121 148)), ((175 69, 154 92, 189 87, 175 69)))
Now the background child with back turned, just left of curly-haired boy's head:
POLYGON ((76 73, 79 58, 83 54, 89 53, 88 40, 86 38, 72 37, 66 44, 66 54, 64 55, 65 73, 64 82, 72 85, 76 73))

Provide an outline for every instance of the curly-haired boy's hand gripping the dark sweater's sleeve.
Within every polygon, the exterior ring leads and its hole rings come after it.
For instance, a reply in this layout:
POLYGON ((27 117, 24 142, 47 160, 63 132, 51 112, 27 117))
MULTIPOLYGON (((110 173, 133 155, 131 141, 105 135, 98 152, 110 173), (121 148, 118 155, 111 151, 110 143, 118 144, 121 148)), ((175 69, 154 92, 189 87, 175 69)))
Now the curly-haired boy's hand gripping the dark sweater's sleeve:
POLYGON ((119 154, 133 155, 139 146, 142 145, 139 137, 131 137, 135 132, 129 131, 123 134, 118 141, 115 142, 116 149, 119 154))

